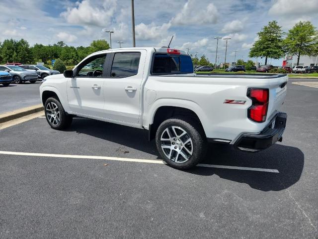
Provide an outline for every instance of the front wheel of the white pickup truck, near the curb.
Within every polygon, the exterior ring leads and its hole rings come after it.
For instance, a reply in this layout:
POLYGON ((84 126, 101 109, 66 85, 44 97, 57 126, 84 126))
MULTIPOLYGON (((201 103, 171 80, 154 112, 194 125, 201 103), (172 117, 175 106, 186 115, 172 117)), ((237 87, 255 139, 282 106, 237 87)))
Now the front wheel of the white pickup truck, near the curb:
POLYGON ((68 115, 62 104, 54 97, 46 100, 44 105, 45 118, 54 129, 68 128, 73 120, 71 115, 68 115))

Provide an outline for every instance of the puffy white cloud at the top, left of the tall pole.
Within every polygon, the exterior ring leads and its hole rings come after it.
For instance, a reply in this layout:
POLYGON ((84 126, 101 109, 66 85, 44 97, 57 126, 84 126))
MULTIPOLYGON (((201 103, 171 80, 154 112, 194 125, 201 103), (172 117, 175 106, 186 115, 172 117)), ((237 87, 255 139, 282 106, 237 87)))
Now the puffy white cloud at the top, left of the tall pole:
POLYGON ((102 5, 98 1, 83 0, 77 2, 75 7, 68 7, 61 16, 76 25, 106 26, 111 23, 115 8, 115 0, 104 0, 102 5))

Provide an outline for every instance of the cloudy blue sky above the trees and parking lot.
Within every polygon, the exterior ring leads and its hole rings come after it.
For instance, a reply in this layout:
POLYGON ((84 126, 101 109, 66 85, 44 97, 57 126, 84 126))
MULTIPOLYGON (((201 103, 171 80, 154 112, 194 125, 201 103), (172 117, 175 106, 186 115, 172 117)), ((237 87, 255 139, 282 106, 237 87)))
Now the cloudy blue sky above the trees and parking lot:
MULTIPOLYGON (((270 20, 288 31, 299 20, 318 26, 318 0, 135 0, 137 46, 167 45, 205 54, 215 61, 215 36, 232 37, 227 62, 248 59, 256 33, 270 20), (301 4, 301 6, 300 6, 301 4)), ((35 43, 87 46, 106 39, 112 45, 132 46, 130 0, 1 0, 0 41, 26 39, 35 43)), ((225 40, 219 40, 218 58, 224 62, 225 40)), ((253 59, 254 60, 254 59, 253 59)), ((264 60, 261 60, 264 61, 264 60)), ((272 60, 281 65, 282 60, 272 60)))

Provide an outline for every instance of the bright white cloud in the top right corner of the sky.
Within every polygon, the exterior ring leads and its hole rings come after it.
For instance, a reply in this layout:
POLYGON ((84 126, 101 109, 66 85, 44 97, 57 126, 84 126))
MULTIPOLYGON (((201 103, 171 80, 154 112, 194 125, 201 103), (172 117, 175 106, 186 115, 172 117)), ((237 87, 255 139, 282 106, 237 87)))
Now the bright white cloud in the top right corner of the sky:
MULTIPOLYGON (((277 0, 269 9, 271 15, 294 15, 318 12, 317 0, 277 0)), ((294 15, 295 16, 295 15, 294 15)))

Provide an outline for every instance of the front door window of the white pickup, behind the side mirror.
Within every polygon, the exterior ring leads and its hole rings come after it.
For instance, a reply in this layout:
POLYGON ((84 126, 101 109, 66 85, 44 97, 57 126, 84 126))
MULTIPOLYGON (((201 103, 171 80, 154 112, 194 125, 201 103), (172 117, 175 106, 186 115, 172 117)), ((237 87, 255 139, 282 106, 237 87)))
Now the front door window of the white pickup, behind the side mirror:
POLYGON ((106 54, 92 56, 79 66, 77 76, 100 77, 103 75, 106 54))

